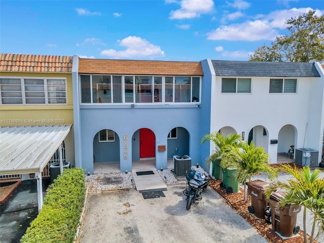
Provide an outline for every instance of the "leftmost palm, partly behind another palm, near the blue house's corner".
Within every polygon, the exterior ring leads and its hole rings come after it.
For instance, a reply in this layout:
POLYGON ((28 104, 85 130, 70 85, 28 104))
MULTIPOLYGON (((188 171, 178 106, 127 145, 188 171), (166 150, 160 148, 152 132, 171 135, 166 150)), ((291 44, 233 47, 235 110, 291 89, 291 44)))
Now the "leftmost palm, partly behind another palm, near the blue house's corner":
POLYGON ((240 138, 238 134, 230 134, 228 136, 223 136, 220 132, 212 132, 206 134, 201 140, 201 143, 207 140, 212 141, 215 144, 215 149, 213 153, 207 158, 206 165, 209 167, 213 161, 216 159, 221 159, 227 154, 232 147, 240 147, 240 138))

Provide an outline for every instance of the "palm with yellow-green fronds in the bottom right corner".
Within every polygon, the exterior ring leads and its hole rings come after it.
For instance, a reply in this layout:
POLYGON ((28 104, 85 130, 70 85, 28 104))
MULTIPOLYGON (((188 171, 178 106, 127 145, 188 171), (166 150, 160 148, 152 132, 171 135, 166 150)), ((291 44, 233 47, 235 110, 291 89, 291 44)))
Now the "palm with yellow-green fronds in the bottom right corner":
POLYGON ((266 187, 265 195, 267 198, 270 198, 274 190, 283 189, 284 197, 279 201, 278 207, 284 207, 288 204, 304 207, 304 243, 307 243, 306 210, 311 211, 313 215, 312 232, 309 239, 309 243, 311 243, 313 241, 316 224, 318 226, 318 233, 315 238, 324 235, 324 179, 319 177, 320 171, 318 169, 315 169, 311 173, 308 166, 298 170, 296 167, 292 168, 289 165, 282 165, 279 169, 288 172, 294 178, 289 179, 287 182, 272 182, 266 187))

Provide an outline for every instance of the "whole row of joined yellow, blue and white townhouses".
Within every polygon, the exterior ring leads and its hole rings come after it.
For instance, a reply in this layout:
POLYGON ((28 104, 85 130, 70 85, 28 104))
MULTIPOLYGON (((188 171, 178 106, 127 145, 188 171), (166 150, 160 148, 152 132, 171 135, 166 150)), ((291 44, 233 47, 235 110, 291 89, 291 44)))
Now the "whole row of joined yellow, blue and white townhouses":
POLYGON ((201 139, 214 131, 264 147, 270 163, 292 145, 317 151, 313 166, 321 160, 319 63, 12 54, 1 61, 1 126, 73 124, 64 140, 66 161, 86 173, 101 165, 132 171, 143 161, 166 169, 174 155, 185 154, 209 170, 214 145, 201 139))

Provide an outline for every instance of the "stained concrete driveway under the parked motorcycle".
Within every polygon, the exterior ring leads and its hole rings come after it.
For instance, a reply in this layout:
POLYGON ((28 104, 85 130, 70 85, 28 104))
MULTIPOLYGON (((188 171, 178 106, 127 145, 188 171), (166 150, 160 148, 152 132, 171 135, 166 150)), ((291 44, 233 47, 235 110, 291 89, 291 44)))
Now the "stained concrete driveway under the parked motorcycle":
POLYGON ((211 188, 186 210, 184 189, 151 199, 135 189, 90 194, 80 242, 267 242, 211 188))

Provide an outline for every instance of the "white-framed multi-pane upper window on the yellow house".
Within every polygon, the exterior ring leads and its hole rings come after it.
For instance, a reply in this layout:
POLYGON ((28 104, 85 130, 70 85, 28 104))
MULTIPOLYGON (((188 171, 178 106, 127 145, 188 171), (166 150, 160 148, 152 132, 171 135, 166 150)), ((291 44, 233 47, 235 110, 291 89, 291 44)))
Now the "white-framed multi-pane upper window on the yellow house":
POLYGON ((66 79, 0 78, 1 104, 66 104, 66 79))

